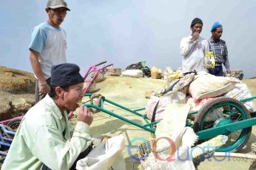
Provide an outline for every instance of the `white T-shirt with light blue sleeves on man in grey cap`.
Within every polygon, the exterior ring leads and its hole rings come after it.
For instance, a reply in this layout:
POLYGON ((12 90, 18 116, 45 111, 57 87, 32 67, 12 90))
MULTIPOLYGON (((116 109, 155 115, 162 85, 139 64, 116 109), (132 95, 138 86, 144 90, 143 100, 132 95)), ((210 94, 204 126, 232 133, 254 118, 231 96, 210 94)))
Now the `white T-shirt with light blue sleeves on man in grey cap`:
POLYGON ((45 80, 50 77, 52 65, 67 63, 66 32, 61 28, 50 26, 47 22, 33 29, 29 48, 39 53, 38 60, 44 72, 45 80))

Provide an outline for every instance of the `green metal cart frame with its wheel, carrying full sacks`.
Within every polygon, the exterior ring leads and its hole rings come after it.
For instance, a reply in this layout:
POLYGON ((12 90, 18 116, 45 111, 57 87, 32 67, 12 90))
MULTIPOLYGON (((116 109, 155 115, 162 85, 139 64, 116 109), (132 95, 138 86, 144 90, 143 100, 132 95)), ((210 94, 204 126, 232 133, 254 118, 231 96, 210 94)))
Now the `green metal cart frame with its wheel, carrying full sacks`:
MULTIPOLYGON (((92 94, 85 94, 85 96, 90 97, 92 94)), ((194 128, 195 133, 199 136, 199 140, 204 141, 207 139, 212 139, 213 137, 224 134, 229 137, 226 144, 217 151, 231 151, 236 152, 240 150, 247 140, 250 138, 252 133, 253 125, 256 125, 255 112, 249 112, 245 106, 245 102, 248 100, 256 99, 255 97, 242 99, 240 101, 231 98, 219 97, 212 99, 203 105, 200 111, 189 112, 188 117, 195 115, 195 120, 191 121, 189 118, 186 120, 186 126, 194 128), (217 118, 209 119, 212 114, 218 113, 217 118)), ((123 105, 119 105, 105 97, 102 97, 100 105, 84 104, 88 108, 92 107, 96 110, 107 113, 110 116, 114 116, 123 120, 125 122, 131 123, 134 126, 140 127, 150 133, 155 132, 155 127, 158 122, 151 122, 148 120, 147 115, 140 113, 140 111, 145 110, 145 108, 131 110, 123 105), (104 103, 114 105, 119 109, 131 112, 131 114, 140 116, 144 123, 140 124, 134 122, 124 116, 120 116, 117 113, 108 111, 104 108, 104 103)))

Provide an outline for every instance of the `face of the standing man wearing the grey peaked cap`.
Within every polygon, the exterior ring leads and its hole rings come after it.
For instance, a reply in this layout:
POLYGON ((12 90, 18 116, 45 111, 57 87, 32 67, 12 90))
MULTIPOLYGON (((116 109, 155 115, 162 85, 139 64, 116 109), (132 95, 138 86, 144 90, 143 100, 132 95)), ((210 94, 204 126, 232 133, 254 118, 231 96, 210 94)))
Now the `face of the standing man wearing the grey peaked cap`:
POLYGON ((46 12, 49 16, 49 24, 58 28, 67 15, 67 8, 46 8, 46 12))

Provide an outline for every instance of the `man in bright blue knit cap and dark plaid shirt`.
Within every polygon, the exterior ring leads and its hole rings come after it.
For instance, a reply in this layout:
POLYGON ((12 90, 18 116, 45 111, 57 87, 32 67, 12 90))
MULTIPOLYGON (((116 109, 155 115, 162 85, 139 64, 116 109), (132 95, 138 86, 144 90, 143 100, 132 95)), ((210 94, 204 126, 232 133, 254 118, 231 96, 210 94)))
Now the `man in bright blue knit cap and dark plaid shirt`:
POLYGON ((230 71, 230 61, 228 58, 228 48, 224 40, 220 39, 223 33, 223 28, 219 22, 215 22, 212 25, 212 37, 208 40, 209 42, 209 51, 212 51, 215 58, 215 68, 209 69, 209 73, 217 77, 223 77, 223 68, 225 66, 228 74, 230 71))

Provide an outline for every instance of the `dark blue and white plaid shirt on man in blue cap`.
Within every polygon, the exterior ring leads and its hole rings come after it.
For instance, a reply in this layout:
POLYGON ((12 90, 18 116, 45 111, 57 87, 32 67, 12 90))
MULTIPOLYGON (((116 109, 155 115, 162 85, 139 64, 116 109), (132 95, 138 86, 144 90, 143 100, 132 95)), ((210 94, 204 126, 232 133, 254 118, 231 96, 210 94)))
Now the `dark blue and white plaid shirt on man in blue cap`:
POLYGON ((212 37, 208 40, 209 51, 212 51, 215 57, 216 65, 224 64, 226 69, 230 69, 230 61, 228 58, 228 48, 224 40, 219 40, 215 42, 212 37))

